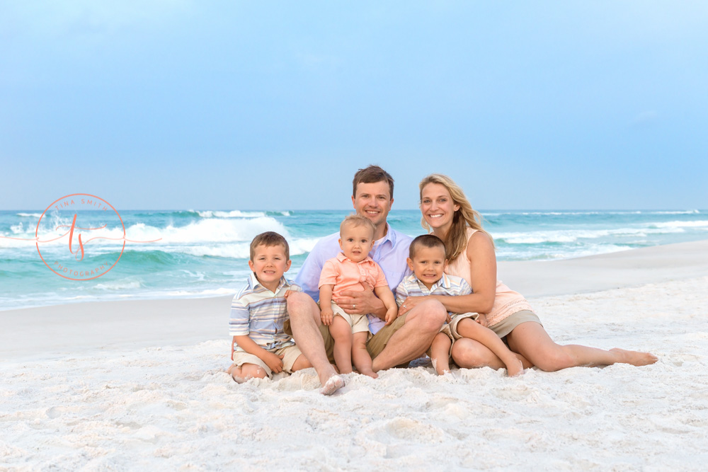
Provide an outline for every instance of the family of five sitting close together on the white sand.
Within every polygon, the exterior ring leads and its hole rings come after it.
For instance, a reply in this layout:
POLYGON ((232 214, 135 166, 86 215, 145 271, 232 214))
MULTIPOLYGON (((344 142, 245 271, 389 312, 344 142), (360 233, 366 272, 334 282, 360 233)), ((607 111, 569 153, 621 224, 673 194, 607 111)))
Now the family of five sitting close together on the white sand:
POLYGON ((506 368, 510 376, 533 366, 656 362, 647 352, 554 343, 524 297, 496 280, 492 238, 446 175, 420 184, 430 234, 411 239, 389 226, 393 195, 389 173, 360 169, 356 214, 316 243, 295 282, 283 277, 290 268, 285 238, 269 231, 253 239, 253 273, 234 297, 229 321, 234 380, 314 367, 321 393, 331 395, 344 386, 340 374, 352 372, 352 362, 376 377, 426 352, 438 374, 450 370, 450 361, 506 368))

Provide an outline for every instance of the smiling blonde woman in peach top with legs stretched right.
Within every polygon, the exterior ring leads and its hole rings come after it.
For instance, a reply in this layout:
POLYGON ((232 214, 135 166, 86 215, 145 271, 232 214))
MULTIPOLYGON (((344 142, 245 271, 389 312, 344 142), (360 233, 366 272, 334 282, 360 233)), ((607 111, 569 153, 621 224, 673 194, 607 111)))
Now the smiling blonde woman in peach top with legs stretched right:
MULTIPOLYGON (((486 323, 510 350, 517 352, 525 367, 535 365, 553 372, 566 367, 610 365, 617 362, 636 366, 653 364, 649 352, 622 349, 602 350, 579 345, 557 345, 544 330, 528 302, 496 280, 496 255, 491 236, 482 229, 479 213, 469 205, 462 189, 447 175, 431 174, 421 181, 423 227, 445 243, 448 265, 445 272, 467 280, 474 293, 460 297, 409 297, 399 314, 426 298, 434 298, 447 311, 486 314, 486 323)), ((485 323, 482 317, 482 323, 485 323)), ((474 340, 462 338, 452 346, 452 359, 459 367, 501 369, 498 357, 474 340)))

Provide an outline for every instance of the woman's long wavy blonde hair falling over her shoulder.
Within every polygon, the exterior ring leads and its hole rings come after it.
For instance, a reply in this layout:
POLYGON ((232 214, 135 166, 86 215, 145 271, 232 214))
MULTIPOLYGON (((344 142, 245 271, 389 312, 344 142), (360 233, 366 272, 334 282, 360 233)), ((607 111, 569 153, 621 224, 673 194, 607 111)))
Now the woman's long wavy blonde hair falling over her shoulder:
MULTIPOLYGON (((460 188, 459 185, 457 185, 455 181, 447 175, 433 173, 421 180, 421 184, 418 186, 421 190, 421 200, 419 204, 423 202, 423 188, 429 183, 439 183, 445 187, 447 191, 450 192, 452 202, 454 202, 455 205, 459 205, 459 209, 452 216, 452 226, 450 227, 450 231, 447 231, 445 240, 443 241, 445 243, 445 253, 447 253, 447 259, 450 260, 450 262, 457 259, 459 255, 462 254, 462 251, 464 251, 464 248, 467 247, 467 226, 472 229, 482 231, 484 234, 489 236, 493 246, 494 241, 491 238, 491 235, 484 231, 484 228, 482 228, 481 214, 472 208, 472 205, 469 204, 469 200, 467 200, 467 197, 464 195, 462 188, 460 188)), ((421 225, 423 228, 430 231, 430 226, 424 217, 421 218, 421 225)))

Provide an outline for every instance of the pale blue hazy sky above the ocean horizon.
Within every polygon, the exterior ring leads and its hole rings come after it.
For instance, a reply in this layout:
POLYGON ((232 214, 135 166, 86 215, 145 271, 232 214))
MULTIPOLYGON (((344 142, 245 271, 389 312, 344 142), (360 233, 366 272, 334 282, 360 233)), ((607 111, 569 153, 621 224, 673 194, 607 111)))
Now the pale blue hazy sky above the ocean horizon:
POLYGON ((707 209, 700 1, 0 4, 0 209, 707 209))

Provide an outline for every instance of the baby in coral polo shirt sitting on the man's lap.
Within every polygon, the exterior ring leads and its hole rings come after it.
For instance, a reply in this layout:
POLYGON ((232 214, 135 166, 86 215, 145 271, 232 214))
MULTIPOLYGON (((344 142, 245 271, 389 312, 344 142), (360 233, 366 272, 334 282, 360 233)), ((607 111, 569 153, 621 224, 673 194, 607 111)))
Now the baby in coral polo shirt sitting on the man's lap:
POLYGON ((376 227, 366 217, 350 215, 339 226, 339 247, 342 252, 324 263, 319 278, 319 306, 322 323, 329 326, 334 339, 334 360, 339 372, 348 374, 354 367, 367 376, 376 378, 371 369, 371 357, 366 350, 370 338, 366 315, 350 315, 332 298, 342 292, 363 292, 373 289, 386 307, 386 324, 398 315, 394 294, 386 282, 381 267, 369 257, 376 227))

